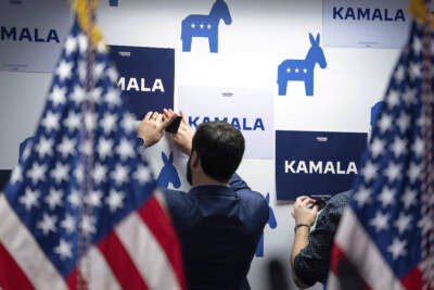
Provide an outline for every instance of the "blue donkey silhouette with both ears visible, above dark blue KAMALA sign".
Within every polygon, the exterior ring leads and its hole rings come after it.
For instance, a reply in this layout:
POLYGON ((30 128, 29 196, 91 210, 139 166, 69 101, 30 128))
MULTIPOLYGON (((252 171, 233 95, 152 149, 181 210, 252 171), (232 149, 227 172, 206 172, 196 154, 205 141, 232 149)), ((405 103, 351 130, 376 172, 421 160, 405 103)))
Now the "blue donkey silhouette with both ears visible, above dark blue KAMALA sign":
POLYGON ((319 34, 314 39, 309 34, 310 45, 305 60, 285 60, 278 67, 279 96, 286 94, 289 80, 305 83, 306 96, 314 96, 314 68, 318 63, 321 68, 327 67, 324 52, 319 46, 319 34))

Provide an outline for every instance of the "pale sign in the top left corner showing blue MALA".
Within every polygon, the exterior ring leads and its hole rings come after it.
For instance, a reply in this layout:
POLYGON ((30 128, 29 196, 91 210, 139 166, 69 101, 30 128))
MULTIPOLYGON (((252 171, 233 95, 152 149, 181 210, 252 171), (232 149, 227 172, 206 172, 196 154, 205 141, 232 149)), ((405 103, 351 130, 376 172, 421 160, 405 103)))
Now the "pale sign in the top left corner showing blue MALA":
POLYGON ((71 26, 68 1, 0 2, 0 71, 51 73, 71 26))

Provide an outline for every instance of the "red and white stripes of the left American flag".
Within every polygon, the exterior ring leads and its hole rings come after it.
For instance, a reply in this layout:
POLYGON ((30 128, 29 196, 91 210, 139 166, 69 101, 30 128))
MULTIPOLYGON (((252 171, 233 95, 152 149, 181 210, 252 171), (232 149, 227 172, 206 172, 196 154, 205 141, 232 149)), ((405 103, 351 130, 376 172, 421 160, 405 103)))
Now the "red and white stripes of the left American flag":
MULTIPOLYGON (((0 287, 76 289, 77 268, 65 280, 3 194, 0 220, 0 287)), ((186 289, 178 239, 154 197, 89 250, 81 270, 89 290, 186 289)))

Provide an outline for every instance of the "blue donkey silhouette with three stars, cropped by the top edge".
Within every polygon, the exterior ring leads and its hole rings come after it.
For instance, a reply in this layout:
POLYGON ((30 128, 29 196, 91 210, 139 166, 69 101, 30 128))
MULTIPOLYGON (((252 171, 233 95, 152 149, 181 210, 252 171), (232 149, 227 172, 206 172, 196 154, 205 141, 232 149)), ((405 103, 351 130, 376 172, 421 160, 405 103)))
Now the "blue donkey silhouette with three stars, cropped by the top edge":
POLYGON ((191 14, 182 21, 181 40, 182 51, 191 51, 193 37, 207 37, 210 52, 218 52, 218 24, 220 18, 225 24, 232 23, 228 4, 224 0, 216 0, 209 15, 191 14))

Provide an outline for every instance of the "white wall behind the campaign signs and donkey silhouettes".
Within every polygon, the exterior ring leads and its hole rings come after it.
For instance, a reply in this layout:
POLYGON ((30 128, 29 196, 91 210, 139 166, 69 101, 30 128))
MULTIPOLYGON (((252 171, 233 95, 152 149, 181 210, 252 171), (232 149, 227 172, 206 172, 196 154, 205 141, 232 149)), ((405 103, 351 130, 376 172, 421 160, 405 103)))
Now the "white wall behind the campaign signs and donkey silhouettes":
MULTIPOLYGON (((289 96, 279 97, 277 66, 285 59, 305 58, 308 33, 321 33, 322 1, 227 0, 233 23, 219 26, 219 53, 208 52, 206 39, 194 39, 192 52, 181 52, 181 21, 208 13, 213 3, 119 0, 118 8, 110 8, 100 0, 99 24, 111 45, 175 48, 176 87, 273 89, 276 129, 368 131, 370 106, 382 98, 398 50, 323 47, 328 67, 315 70, 315 97, 304 96, 303 83, 292 83, 289 96)), ((0 169, 14 166, 18 143, 31 135, 50 77, 0 72, 0 169)), ((244 160, 239 171, 253 189, 270 192, 278 222, 277 229, 265 229, 265 259, 252 264, 254 290, 267 289, 267 257, 279 257, 290 272, 294 220, 290 205, 276 203, 273 172, 272 160, 244 160)))

